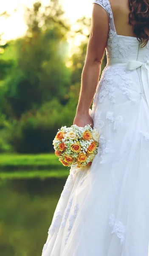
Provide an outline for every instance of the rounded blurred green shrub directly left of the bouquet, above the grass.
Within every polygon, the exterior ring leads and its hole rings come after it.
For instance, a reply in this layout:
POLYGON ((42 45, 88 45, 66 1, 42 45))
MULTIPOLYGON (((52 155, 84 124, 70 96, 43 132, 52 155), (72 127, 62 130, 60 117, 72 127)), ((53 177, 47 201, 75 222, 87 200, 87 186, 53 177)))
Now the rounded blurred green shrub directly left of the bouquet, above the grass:
POLYGON ((73 102, 61 105, 57 99, 45 103, 39 110, 29 111, 14 121, 9 141, 19 153, 43 153, 53 150, 53 139, 63 125, 70 126, 76 112, 73 102))

